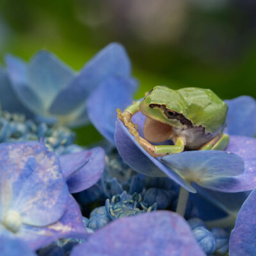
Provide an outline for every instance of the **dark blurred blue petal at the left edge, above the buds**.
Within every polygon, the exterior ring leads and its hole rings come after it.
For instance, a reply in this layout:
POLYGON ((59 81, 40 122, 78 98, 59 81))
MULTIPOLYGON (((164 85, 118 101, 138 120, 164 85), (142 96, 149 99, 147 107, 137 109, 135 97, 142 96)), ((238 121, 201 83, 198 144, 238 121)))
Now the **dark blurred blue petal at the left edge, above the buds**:
POLYGON ((0 105, 3 110, 10 113, 24 113, 28 118, 33 114, 21 104, 17 95, 13 91, 12 84, 5 70, 0 67, 0 105))

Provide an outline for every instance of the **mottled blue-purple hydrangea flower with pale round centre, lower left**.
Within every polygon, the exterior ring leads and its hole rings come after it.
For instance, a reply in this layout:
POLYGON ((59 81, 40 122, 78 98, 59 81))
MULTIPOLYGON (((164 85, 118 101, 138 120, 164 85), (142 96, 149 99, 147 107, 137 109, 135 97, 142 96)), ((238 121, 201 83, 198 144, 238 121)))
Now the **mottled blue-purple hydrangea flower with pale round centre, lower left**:
POLYGON ((38 142, 0 144, 0 234, 30 248, 86 235, 79 206, 54 153, 38 142))

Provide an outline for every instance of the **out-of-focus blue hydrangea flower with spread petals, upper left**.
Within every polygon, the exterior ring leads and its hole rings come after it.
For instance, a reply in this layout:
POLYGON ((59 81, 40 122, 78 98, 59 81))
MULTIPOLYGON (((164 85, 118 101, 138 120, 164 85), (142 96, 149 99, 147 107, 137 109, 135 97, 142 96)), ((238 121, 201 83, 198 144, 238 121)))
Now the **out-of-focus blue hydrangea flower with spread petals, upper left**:
POLYGON ((10 104, 5 104, 4 98, 12 91, 10 97, 14 97, 10 102, 15 111, 21 103, 39 120, 47 122, 86 124, 88 96, 109 77, 124 79, 130 91, 136 88, 129 58, 124 47, 116 43, 102 49, 78 73, 48 51, 37 52, 29 63, 12 55, 7 55, 5 60, 8 81, 0 86, 3 108, 10 111, 10 104), (16 106, 17 98, 20 102, 16 106))

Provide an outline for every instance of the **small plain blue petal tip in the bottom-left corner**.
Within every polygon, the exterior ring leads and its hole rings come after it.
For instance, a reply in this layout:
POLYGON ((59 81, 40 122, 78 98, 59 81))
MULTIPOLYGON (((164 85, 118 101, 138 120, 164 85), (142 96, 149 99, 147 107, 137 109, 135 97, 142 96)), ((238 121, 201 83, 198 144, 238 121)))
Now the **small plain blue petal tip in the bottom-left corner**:
POLYGON ((36 253, 29 249, 28 245, 21 239, 0 236, 1 256, 36 256, 36 253))

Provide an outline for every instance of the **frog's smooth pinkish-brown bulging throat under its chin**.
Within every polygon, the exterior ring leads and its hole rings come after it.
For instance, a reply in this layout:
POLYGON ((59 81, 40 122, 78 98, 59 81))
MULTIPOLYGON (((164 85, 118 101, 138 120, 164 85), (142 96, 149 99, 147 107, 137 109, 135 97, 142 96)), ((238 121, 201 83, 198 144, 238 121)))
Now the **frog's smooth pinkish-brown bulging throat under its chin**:
POLYGON ((143 134, 146 140, 157 143, 169 140, 173 135, 173 129, 171 125, 146 117, 143 134))

